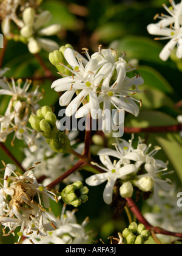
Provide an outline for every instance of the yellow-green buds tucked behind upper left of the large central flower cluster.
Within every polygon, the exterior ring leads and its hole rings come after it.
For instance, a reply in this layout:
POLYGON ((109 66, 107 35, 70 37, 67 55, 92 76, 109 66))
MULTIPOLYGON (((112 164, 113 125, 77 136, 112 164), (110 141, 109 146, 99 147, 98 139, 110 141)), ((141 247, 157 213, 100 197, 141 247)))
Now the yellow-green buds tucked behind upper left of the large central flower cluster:
POLYGON ((56 69, 58 69, 59 73, 66 74, 67 76, 70 76, 71 72, 69 71, 69 69, 67 69, 63 66, 63 65, 65 65, 65 66, 71 68, 69 66, 69 64, 67 63, 66 59, 64 58, 64 51, 67 48, 73 49, 71 44, 66 44, 65 46, 61 46, 61 48, 59 48, 59 50, 50 52, 49 60, 56 67, 56 69))

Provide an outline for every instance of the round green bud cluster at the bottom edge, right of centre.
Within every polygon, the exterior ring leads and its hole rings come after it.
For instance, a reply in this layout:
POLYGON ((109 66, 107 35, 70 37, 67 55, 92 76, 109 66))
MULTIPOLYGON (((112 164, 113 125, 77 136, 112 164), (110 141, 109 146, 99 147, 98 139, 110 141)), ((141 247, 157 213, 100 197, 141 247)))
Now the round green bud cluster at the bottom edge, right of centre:
POLYGON ((124 244, 144 244, 149 237, 150 232, 146 230, 143 224, 137 225, 132 222, 128 228, 123 230, 124 244))

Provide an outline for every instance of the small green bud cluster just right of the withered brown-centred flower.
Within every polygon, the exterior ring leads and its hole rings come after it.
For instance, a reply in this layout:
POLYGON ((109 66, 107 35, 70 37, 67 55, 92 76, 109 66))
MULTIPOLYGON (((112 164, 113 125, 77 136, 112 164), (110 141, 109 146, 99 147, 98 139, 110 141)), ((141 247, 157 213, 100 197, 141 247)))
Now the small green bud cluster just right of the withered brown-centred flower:
POLYGON ((89 193, 89 188, 83 186, 80 181, 74 182, 72 185, 67 185, 61 192, 62 201, 66 204, 78 207, 82 203, 88 200, 87 194, 89 193))

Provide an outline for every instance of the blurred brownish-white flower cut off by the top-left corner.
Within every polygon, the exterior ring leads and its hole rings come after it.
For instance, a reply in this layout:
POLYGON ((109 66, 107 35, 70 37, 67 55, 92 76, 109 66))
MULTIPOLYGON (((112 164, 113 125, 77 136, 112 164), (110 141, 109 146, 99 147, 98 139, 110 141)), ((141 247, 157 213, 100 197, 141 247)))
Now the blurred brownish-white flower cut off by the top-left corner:
POLYGON ((0 4, 0 18, 2 19, 2 32, 8 37, 10 34, 10 21, 12 20, 17 26, 23 25, 16 15, 16 10, 20 4, 20 0, 4 0, 0 4))

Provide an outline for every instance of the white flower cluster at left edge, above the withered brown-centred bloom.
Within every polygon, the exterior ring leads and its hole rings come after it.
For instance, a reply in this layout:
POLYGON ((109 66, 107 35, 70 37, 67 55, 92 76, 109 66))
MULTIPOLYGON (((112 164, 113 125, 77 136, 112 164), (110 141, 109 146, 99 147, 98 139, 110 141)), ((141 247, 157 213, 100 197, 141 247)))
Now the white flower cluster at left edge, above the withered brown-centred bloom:
POLYGON ((15 132, 13 141, 15 138, 24 140, 31 150, 35 150, 35 134, 27 127, 27 123, 31 113, 33 114, 38 110, 39 105, 37 102, 42 96, 38 92, 38 87, 35 91, 27 92, 32 83, 31 81, 27 80, 23 88, 21 88, 21 79, 17 83, 18 85, 12 79, 11 86, 7 81, 0 81, 0 87, 2 88, 0 89, 0 95, 12 96, 4 115, 0 117, 0 141, 4 142, 10 133, 15 132))

